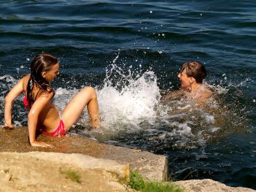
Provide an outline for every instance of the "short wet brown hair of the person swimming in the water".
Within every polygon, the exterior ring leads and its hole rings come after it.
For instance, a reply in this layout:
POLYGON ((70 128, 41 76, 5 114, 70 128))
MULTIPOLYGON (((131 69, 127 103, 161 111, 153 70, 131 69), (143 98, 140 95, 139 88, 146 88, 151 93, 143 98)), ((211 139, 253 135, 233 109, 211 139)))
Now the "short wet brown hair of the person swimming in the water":
POLYGON ((199 61, 188 61, 182 65, 181 73, 185 70, 188 77, 194 77, 196 83, 203 84, 203 79, 206 77, 206 70, 203 64, 199 61))

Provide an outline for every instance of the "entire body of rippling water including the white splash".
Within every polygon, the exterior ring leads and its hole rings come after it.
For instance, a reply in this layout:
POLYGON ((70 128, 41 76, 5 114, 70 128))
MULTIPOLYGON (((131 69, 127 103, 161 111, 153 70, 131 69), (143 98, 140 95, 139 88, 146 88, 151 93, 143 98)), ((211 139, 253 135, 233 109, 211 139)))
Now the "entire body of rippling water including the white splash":
MULTIPOLYGON (((254 1, 1 1, 0 21, 1 124, 8 90, 49 52, 60 110, 83 86, 98 93, 103 134, 86 111, 71 133, 167 155, 174 180, 256 189, 254 1), (179 93, 161 100, 189 60, 217 95, 203 108, 179 93)), ((26 114, 19 97, 16 126, 26 114)))

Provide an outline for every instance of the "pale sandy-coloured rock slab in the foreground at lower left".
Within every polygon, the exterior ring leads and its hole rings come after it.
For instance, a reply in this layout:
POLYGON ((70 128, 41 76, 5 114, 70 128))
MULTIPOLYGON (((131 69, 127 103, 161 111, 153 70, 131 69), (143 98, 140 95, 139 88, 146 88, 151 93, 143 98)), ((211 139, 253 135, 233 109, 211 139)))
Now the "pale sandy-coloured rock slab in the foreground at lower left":
POLYGON ((113 160, 44 152, 0 158, 0 191, 127 191, 120 181, 129 177, 129 166, 113 160))

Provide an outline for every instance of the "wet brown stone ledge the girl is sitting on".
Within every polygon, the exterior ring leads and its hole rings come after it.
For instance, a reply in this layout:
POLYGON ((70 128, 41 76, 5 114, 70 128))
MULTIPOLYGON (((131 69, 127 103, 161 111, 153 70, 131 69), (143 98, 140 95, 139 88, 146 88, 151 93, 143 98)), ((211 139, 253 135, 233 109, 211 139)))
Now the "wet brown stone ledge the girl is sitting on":
POLYGON ((55 153, 81 153, 92 157, 115 160, 121 164, 129 164, 131 169, 138 170, 149 180, 167 180, 167 157, 154 155, 147 151, 100 144, 93 140, 73 135, 51 137, 39 135, 38 141, 52 144, 53 148, 32 147, 28 144, 28 128, 19 127, 13 130, 0 128, 0 152, 43 151, 55 153))

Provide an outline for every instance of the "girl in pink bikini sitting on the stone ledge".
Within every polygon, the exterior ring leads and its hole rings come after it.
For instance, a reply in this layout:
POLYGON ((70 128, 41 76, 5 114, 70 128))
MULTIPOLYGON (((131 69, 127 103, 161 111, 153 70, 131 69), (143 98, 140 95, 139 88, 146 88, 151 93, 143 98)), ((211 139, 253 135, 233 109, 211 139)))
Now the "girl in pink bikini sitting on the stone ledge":
POLYGON ((36 131, 46 135, 64 135, 75 124, 86 105, 91 126, 95 128, 100 126, 97 95, 94 88, 89 86, 82 88, 71 99, 60 117, 57 107, 52 102, 55 91, 50 85, 50 82, 59 74, 59 68, 59 61, 52 55, 46 53, 37 55, 30 65, 30 74, 19 80, 5 97, 4 126, 14 128, 12 102, 24 93, 24 105, 29 108, 28 134, 31 146, 51 146, 35 140, 36 131))

